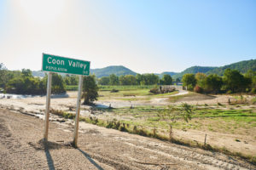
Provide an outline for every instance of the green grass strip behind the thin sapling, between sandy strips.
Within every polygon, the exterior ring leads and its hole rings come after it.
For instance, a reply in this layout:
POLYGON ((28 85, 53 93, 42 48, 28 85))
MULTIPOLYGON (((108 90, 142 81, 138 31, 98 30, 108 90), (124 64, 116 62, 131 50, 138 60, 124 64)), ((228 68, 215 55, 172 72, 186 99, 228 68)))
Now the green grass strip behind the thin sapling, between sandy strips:
MULTIPOLYGON (((164 106, 137 106, 107 109, 113 115, 114 120, 142 127, 157 127, 160 130, 168 130, 169 125, 158 116, 164 106)), ((104 109, 102 109, 104 111, 104 109)), ((187 123, 182 117, 177 117, 177 122, 172 125, 177 129, 209 130, 223 133, 248 133, 251 128, 256 127, 256 112, 247 110, 221 110, 211 108, 200 108, 194 106, 192 120, 187 123)), ((256 138, 256 134, 255 134, 256 138)))

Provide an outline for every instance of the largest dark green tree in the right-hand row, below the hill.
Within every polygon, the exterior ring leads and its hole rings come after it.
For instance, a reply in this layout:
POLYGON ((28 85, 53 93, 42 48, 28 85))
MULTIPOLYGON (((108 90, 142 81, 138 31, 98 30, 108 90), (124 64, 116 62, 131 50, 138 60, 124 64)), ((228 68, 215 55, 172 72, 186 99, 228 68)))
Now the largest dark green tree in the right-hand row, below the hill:
POLYGON ((224 89, 230 93, 245 91, 251 84, 251 80, 243 77, 239 71, 226 69, 224 71, 224 89))

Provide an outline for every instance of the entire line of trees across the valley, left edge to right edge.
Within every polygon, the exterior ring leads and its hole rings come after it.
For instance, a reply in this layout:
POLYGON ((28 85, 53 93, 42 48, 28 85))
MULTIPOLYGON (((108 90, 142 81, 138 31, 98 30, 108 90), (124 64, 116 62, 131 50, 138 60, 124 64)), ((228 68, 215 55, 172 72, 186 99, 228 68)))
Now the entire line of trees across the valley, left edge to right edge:
MULTIPOLYGON (((47 74, 43 78, 33 77, 32 71, 22 69, 22 71, 9 71, 3 64, 0 64, 0 88, 9 94, 46 94, 47 74)), ((180 82, 177 79, 175 82, 180 82)), ((256 93, 256 71, 249 70, 246 74, 241 74, 240 71, 226 69, 224 76, 220 77, 216 74, 206 75, 204 73, 185 74, 181 80, 183 86, 190 91, 206 94, 220 93, 240 93, 250 92, 256 93)), ((52 76, 52 94, 61 94, 66 92, 67 85, 78 85, 78 76, 61 76, 54 73, 52 76)), ((96 94, 98 85, 171 85, 174 81, 170 75, 159 77, 155 74, 137 74, 136 76, 125 75, 116 76, 114 74, 109 77, 84 77, 84 90, 88 96, 89 91, 96 94), (87 83, 87 82, 88 83, 87 83), (86 85, 87 84, 87 85, 86 85), (93 87, 93 86, 95 87, 93 87), (86 91, 85 90, 85 91, 86 91)), ((86 93, 84 96, 86 96, 86 93)), ((90 101, 91 99, 86 99, 90 101)))

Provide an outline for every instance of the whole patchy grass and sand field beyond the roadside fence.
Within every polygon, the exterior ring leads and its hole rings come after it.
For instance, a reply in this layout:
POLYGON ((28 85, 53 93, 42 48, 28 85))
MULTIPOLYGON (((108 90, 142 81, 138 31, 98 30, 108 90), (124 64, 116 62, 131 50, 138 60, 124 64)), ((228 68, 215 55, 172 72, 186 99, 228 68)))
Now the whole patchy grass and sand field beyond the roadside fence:
MULTIPOLYGON (((194 92, 172 96, 178 92, 151 94, 150 88, 154 86, 102 86, 99 91, 99 101, 120 103, 120 106, 112 109, 94 107, 94 115, 81 116, 80 120, 128 133, 172 140, 177 144, 218 150, 256 163, 256 150, 252 146, 256 141, 255 96, 205 95, 194 92), (118 91, 111 93, 113 89, 118 91), (228 103, 229 99, 230 103, 228 103), (121 106, 128 101, 132 101, 135 106, 133 108, 121 106), (157 105, 162 104, 162 101, 166 102, 165 105, 157 105), (137 102, 147 105, 136 105, 137 102), (187 102, 193 107, 192 119, 189 122, 185 122, 181 116, 177 116, 176 122, 172 122, 170 119, 163 119, 159 114, 167 105, 179 107, 187 102), (174 132, 172 138, 170 122, 174 132), (209 136, 207 145, 203 144, 202 139, 206 133, 209 136)), ((73 117, 67 113, 63 116, 73 117)))

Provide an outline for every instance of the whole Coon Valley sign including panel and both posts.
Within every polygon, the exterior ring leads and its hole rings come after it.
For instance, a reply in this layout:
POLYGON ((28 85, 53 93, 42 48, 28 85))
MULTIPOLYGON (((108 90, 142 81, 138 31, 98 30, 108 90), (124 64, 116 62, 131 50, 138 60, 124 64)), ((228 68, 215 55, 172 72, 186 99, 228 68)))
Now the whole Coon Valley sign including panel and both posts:
POLYGON ((75 127, 74 127, 74 134, 73 134, 73 145, 74 147, 77 147, 78 134, 79 134, 79 114, 80 114, 81 92, 83 88, 83 76, 90 75, 90 61, 64 58, 64 57, 51 55, 51 54, 43 54, 42 71, 49 71, 48 82, 47 82, 48 84, 47 84, 47 96, 46 96, 46 107, 45 107, 45 120, 44 120, 44 139, 45 140, 48 140, 49 104, 50 104, 52 72, 61 72, 61 73, 79 75, 79 92, 78 92, 75 127))

